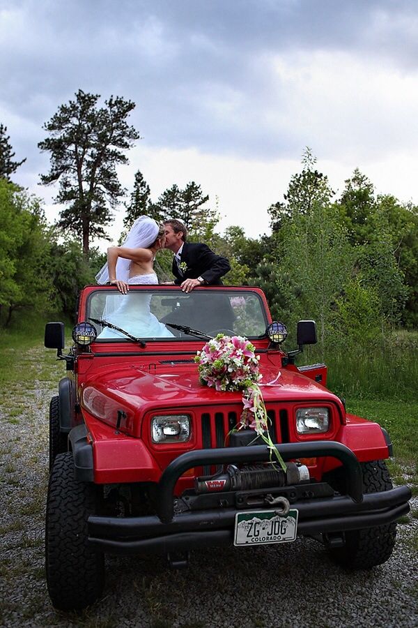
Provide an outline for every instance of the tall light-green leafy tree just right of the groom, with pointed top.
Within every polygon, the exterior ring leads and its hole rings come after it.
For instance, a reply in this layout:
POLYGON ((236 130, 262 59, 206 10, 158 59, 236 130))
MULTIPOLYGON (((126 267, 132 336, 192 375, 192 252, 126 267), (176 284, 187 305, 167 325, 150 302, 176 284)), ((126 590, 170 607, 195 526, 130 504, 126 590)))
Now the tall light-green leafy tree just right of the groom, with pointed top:
POLYGON ((325 347, 336 298, 350 276, 353 258, 334 194, 327 177, 315 168, 307 149, 302 172, 294 174, 285 203, 270 208, 272 226, 268 253, 258 265, 258 283, 272 300, 274 315, 295 328, 301 318, 315 318, 320 345, 325 347))

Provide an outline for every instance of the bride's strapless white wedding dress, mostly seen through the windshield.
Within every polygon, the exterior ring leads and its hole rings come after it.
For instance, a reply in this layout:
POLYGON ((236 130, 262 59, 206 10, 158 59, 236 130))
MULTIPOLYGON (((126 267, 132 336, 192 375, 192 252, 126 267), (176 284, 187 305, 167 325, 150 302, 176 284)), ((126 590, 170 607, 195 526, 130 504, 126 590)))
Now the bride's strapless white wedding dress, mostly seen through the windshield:
MULTIPOLYGON (((130 285, 157 285, 155 273, 136 275, 127 281, 130 285)), ((152 294, 147 292, 128 292, 107 297, 103 319, 125 329, 135 338, 173 338, 174 334, 151 313, 152 294), (108 301, 109 299, 109 301, 108 301), (111 313, 109 313, 111 311, 111 313)), ((126 338, 125 334, 110 327, 104 327, 98 338, 126 338)))

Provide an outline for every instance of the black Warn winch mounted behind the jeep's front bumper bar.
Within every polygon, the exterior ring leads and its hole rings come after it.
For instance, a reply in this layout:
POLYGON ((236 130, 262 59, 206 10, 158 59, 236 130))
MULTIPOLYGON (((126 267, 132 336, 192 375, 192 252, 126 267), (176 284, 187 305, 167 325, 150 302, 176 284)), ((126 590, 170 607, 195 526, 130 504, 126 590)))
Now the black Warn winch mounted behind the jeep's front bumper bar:
POLYGON ((306 465, 286 463, 286 472, 272 465, 246 466, 238 468, 228 465, 215 475, 198 477, 194 488, 196 493, 216 493, 220 491, 251 491, 256 488, 291 486, 309 481, 306 465))

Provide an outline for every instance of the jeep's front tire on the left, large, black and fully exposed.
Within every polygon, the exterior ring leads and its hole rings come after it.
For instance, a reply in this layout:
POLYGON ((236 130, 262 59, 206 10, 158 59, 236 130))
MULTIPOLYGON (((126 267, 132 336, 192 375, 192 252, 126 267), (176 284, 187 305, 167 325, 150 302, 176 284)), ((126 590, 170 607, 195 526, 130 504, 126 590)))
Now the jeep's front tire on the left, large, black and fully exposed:
POLYGON ((72 453, 58 454, 49 476, 45 559, 49 596, 61 611, 79 611, 102 593, 104 556, 87 544, 97 503, 98 487, 75 479, 72 453))

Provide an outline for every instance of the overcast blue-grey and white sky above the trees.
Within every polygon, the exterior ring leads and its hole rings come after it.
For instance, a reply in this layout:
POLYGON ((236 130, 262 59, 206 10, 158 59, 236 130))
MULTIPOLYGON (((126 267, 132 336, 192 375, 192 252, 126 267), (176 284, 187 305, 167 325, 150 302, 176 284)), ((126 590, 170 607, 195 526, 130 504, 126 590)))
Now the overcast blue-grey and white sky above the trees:
POLYGON ((50 220, 37 144, 78 89, 137 104, 125 187, 194 180, 221 229, 268 232, 306 146, 337 193, 359 167, 417 203, 417 78, 417 0, 0 0, 0 122, 50 220))

